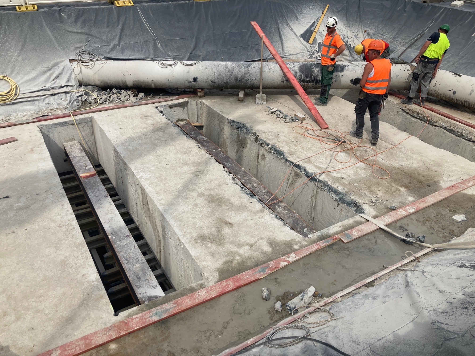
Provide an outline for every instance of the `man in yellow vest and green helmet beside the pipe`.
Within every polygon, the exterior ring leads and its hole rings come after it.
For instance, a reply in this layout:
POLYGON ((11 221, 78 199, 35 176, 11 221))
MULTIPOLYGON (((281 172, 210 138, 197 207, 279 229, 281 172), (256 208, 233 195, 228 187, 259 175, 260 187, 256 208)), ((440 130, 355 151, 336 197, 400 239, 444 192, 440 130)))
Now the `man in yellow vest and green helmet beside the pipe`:
POLYGON ((436 77, 442 59, 444 58, 450 42, 447 33, 450 31, 448 25, 442 25, 437 32, 434 32, 424 43, 415 58, 417 68, 412 72, 411 84, 408 97, 401 99, 401 103, 412 105, 414 103, 424 106, 430 81, 436 77), (420 100, 414 99, 420 85, 420 100))

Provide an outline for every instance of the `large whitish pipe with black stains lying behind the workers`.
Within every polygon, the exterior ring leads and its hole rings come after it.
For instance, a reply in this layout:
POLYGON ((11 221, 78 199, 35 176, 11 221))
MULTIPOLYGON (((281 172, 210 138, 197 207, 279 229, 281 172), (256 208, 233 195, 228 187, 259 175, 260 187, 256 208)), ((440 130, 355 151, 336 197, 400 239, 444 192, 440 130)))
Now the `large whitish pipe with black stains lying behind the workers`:
MULTIPOLYGON (((320 88, 321 65, 313 62, 286 63, 304 89, 320 88)), ((82 85, 101 88, 194 88, 256 89, 259 87, 259 62, 172 62, 109 61, 87 67, 72 61, 71 65, 82 85)), ((340 62, 335 66, 332 88, 359 88, 365 63, 340 62)), ((393 64, 391 89, 408 89, 414 70, 410 64, 393 64)), ((262 87, 289 89, 276 62, 264 62, 262 87)), ((475 107, 475 78, 458 76, 444 70, 431 82, 429 95, 475 107)))

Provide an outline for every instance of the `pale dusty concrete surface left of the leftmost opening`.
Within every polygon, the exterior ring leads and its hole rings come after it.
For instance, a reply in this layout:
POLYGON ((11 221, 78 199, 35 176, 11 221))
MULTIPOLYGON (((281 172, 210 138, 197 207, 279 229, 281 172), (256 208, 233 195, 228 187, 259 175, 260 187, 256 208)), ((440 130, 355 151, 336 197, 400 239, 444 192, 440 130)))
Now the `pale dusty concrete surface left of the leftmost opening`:
POLYGON ((0 130, 0 355, 37 355, 118 320, 37 125, 0 130))

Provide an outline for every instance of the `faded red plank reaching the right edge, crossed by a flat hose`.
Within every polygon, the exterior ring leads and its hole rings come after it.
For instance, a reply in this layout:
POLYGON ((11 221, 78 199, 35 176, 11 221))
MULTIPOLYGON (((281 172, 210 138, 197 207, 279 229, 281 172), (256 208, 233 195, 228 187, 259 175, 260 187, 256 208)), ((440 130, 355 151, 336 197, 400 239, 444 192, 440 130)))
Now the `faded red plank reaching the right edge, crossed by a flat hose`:
MULTIPOLYGON (((454 194, 461 192, 462 190, 473 187, 474 184, 475 176, 462 180, 461 182, 458 182, 450 187, 441 189, 427 197, 424 197, 413 203, 403 206, 400 209, 391 211, 386 215, 378 217, 376 220, 378 220, 378 222, 383 225, 389 225, 391 223, 394 223, 395 221, 398 221, 399 219, 402 219, 403 217, 414 214, 416 211, 431 206, 432 204, 437 203, 445 198, 451 197, 454 194)), ((378 226, 368 221, 367 223, 364 223, 351 230, 341 233, 339 236, 344 243, 348 243, 350 241, 353 241, 354 239, 357 239, 358 237, 361 237, 365 234, 369 234, 378 229, 378 226)))

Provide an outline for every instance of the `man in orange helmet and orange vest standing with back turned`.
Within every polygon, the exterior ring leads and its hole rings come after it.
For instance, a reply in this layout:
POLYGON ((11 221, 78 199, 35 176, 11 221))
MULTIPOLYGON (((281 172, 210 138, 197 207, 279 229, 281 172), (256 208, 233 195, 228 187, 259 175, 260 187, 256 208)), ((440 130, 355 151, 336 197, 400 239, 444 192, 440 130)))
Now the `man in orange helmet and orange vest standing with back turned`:
POLYGON ((350 135, 357 139, 363 138, 364 114, 366 109, 370 112, 371 144, 376 145, 380 138, 380 122, 378 112, 381 101, 388 98, 391 84, 391 62, 381 58, 384 47, 380 41, 374 40, 368 45, 368 58, 370 61, 364 66, 360 80, 360 97, 356 102, 356 129, 350 135))

